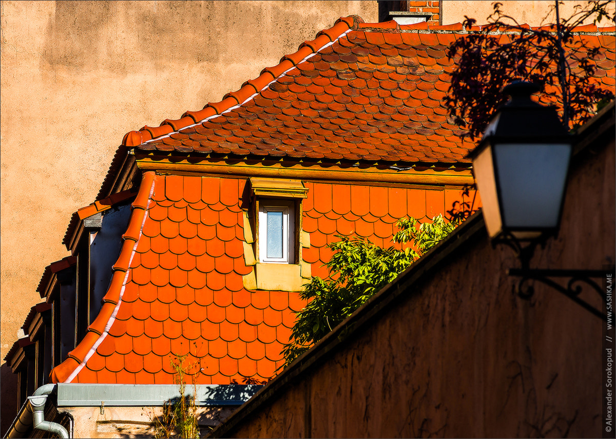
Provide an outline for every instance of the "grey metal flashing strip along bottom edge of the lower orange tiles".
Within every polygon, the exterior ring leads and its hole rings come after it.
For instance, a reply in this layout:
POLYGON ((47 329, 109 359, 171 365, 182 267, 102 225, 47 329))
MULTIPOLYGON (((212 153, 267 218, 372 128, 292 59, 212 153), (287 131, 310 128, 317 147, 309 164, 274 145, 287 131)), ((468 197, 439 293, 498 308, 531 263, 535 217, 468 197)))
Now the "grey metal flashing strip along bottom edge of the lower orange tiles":
MULTIPOLYGON (((262 384, 197 385, 198 406, 239 406, 248 401, 262 384)), ((192 395, 186 385, 186 395, 192 395)), ((162 406, 179 398, 177 384, 58 384, 58 407, 162 406)))

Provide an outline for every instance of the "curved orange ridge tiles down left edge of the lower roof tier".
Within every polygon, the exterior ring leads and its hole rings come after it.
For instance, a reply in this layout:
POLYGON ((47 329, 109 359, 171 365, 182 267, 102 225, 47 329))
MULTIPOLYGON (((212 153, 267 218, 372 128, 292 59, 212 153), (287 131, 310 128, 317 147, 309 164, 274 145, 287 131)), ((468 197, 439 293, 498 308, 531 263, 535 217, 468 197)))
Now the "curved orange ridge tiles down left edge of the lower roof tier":
POLYGON ((139 209, 142 213, 131 213, 131 220, 129 220, 126 233, 122 236, 124 239, 124 244, 122 245, 120 255, 118 255, 116 263, 113 265, 113 274, 111 275, 111 282, 107 289, 107 293, 105 293, 105 296, 103 297, 103 305, 101 306, 97 317, 87 328, 86 335, 84 335, 75 349, 68 353, 67 358, 62 361, 62 363, 51 370, 50 377, 52 382, 70 383, 73 379, 75 379, 79 372, 81 372, 83 367, 86 366, 87 361, 92 357, 92 355, 94 355, 94 352, 103 340, 107 338, 109 330, 111 329, 113 322, 115 322, 118 310, 120 310, 124 289, 126 288, 126 281, 128 281, 129 269, 131 269, 132 258, 135 255, 137 245, 139 244, 139 239, 143 233, 145 220, 148 216, 147 209, 154 193, 154 186, 155 173, 153 171, 145 172, 142 177, 142 184, 140 185, 140 188, 143 188, 143 191, 139 191, 137 193, 137 198, 132 202, 133 209, 139 209), (145 197, 147 197, 147 199, 145 199, 145 197), (139 216, 142 217, 139 218, 139 216), (136 234, 134 233, 136 230, 133 229, 136 229, 134 224, 136 224, 135 220, 137 219, 140 219, 139 233, 137 236, 134 236, 136 234), (132 245, 127 245, 129 241, 132 241, 132 245), (120 273, 123 274, 123 276, 121 276, 120 273), (120 274, 120 276, 118 276, 118 274, 120 274), (120 286, 120 288, 117 292, 117 300, 115 300, 115 297, 108 297, 111 292, 115 292, 117 289, 116 287, 118 286, 120 286), (113 308, 113 310, 111 310, 111 308, 113 308), (100 328, 103 324, 104 327, 100 328), (73 369, 73 371, 68 374, 68 377, 66 377, 68 371, 64 371, 63 369, 70 370, 73 363, 76 363, 75 369, 73 369), (59 375, 58 372, 61 374, 64 372, 62 374, 63 376, 59 375))

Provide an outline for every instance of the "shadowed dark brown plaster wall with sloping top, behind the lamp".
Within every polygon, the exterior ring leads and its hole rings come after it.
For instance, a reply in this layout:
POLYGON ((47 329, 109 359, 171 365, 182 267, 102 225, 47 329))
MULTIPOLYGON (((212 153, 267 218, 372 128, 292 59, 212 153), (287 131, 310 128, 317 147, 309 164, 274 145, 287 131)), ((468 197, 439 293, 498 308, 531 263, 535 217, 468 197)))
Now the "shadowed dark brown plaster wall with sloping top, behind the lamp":
MULTIPOLYGON (((573 172, 532 267, 614 263, 614 153, 573 172)), ((518 265, 482 232, 225 437, 602 437, 602 322, 540 284, 517 298, 518 265)))

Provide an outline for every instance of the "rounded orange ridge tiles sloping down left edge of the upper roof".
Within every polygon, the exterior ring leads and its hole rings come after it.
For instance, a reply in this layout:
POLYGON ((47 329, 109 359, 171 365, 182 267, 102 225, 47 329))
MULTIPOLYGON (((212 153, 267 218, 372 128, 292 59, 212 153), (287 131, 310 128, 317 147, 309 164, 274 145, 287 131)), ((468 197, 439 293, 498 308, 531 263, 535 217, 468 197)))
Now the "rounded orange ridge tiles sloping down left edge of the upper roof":
MULTIPOLYGON (((301 62, 304 62, 306 59, 308 59, 308 57, 310 56, 314 56, 315 54, 317 54, 319 51, 322 51, 323 49, 325 49, 325 47, 329 47, 331 46, 331 44, 334 44, 336 41, 338 41, 339 38, 341 38, 341 36, 346 35, 346 33, 348 33, 349 31, 353 30, 354 28, 357 28, 357 24, 360 22, 363 22, 362 18, 357 16, 357 15, 349 15, 348 17, 341 17, 338 18, 338 20, 336 20, 336 22, 334 22, 334 25, 331 28, 325 29, 325 30, 321 30, 318 31, 317 36, 315 37, 315 39, 311 40, 311 41, 304 41, 304 43, 299 45, 299 49, 298 51, 294 52, 293 54, 288 54, 288 55, 284 55, 281 59, 280 62, 275 65, 274 67, 265 67, 263 70, 261 70, 261 74, 259 76, 257 76, 257 78, 255 78, 254 80, 248 80, 245 83, 242 84, 242 86, 240 87, 240 89, 238 91, 235 92, 229 92, 227 94, 225 94, 222 98, 222 101, 219 102, 209 102, 208 104, 206 104, 202 110, 199 110, 197 112, 191 112, 191 111, 187 111, 185 112, 181 118, 177 119, 177 120, 171 120, 171 119, 165 119, 163 122, 161 122, 161 124, 157 127, 150 127, 150 126, 144 126, 144 128, 139 129, 139 131, 129 131, 128 133, 126 133, 124 135, 124 138, 122 139, 122 145, 123 146, 129 146, 129 147, 134 147, 134 146, 139 146, 140 144, 144 144, 147 142, 150 142, 152 140, 158 140, 158 139, 164 139, 166 137, 171 136, 172 134, 177 134, 179 132, 180 129, 185 129, 185 128, 192 128, 193 126, 197 126, 200 125, 201 123, 203 123, 204 121, 208 121, 212 118, 215 118, 217 116, 220 116, 224 113, 227 113, 231 110, 233 110, 234 108, 238 108, 240 105, 245 104, 246 102, 248 102, 251 98, 254 98, 254 96, 256 96, 257 94, 261 93, 262 91, 264 91, 269 84, 273 83, 274 81, 276 81, 278 78, 280 78, 280 76, 284 75, 286 72, 289 72, 291 69, 295 68, 296 65, 301 64, 301 62), (351 24, 351 23, 352 24, 351 24), (336 27, 339 27, 338 31, 334 31, 332 32, 332 30, 334 30, 336 27), (346 27, 346 29, 342 30, 342 27, 346 27), (338 35, 336 35, 338 34, 338 35), (334 36, 336 35, 336 36, 334 36), (314 49, 312 46, 317 47, 316 44, 314 44, 315 41, 317 41, 317 39, 319 39, 320 37, 325 37, 327 38, 329 41, 327 43, 325 43, 323 41, 323 44, 319 44, 318 49, 314 49), (334 38, 332 39, 332 36, 334 36, 334 38), (313 43, 312 46, 309 43, 313 43), (301 60, 299 60, 298 62, 294 62, 294 56, 296 57, 297 54, 299 54, 302 49, 309 49, 309 53, 307 53, 306 55, 304 55, 301 60), (281 73, 277 73, 277 70, 280 70, 280 67, 285 63, 288 62, 289 64, 291 64, 291 66, 287 69, 285 69, 283 72, 281 73), (265 84, 265 86, 263 86, 260 89, 257 89, 256 86, 254 86, 254 82, 256 81, 260 81, 262 82, 263 80, 265 80, 264 75, 266 73, 269 73, 272 76, 272 80, 269 81, 267 84, 265 84), (274 73, 277 73, 277 75, 275 75, 274 73), (256 93, 251 94, 251 96, 249 96, 247 99, 243 100, 240 103, 240 99, 238 99, 237 96, 234 95, 238 95, 240 94, 242 89, 245 89, 245 92, 248 91, 247 88, 248 86, 252 87, 256 93), (227 101, 228 99, 233 99, 235 100, 235 104, 231 104, 231 102, 227 102, 226 104, 224 104, 225 101, 227 101), (227 106, 229 105, 229 106, 227 106), (226 107, 226 108, 225 108, 226 107), (224 110, 222 110, 224 108, 224 110), (197 118, 195 118, 195 115, 198 115, 198 113, 201 112, 206 112, 208 109, 212 109, 214 110, 213 114, 207 115, 205 118, 200 118, 200 120, 197 120, 197 118), (192 119, 193 123, 189 123, 187 120, 185 120, 186 118, 190 118, 192 119), (180 125, 180 123, 185 125, 180 125), (174 124, 175 122, 175 124, 174 124), (167 131, 166 128, 163 128, 164 126, 170 126, 171 127, 171 131, 167 131), (163 128, 157 131, 156 128, 163 128), (154 131, 154 132, 153 132, 154 131), (158 134, 160 132, 160 134, 158 134), (148 136, 150 136, 149 139, 144 139, 144 134, 147 133, 148 136), (158 135, 154 135, 154 134, 158 134, 158 135)), ((240 95, 241 96, 241 95, 240 95)))

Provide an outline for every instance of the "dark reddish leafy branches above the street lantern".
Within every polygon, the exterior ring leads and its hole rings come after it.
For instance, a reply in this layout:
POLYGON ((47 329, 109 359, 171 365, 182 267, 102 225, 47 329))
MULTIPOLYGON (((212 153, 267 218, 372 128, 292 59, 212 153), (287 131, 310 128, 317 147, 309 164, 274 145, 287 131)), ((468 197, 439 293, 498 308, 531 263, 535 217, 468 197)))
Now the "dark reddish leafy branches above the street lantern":
POLYGON ((596 70, 592 61, 605 59, 605 54, 574 32, 589 17, 595 23, 603 18, 614 23, 614 14, 607 12, 609 3, 589 1, 561 20, 556 1, 556 23, 534 29, 503 13, 500 2, 495 2, 488 24, 480 30, 471 29, 476 20, 465 17, 469 34, 448 51, 457 65, 445 104, 456 124, 468 130, 466 136, 481 136, 493 113, 506 102, 503 86, 514 80, 540 86, 571 129, 593 117, 598 105, 614 99, 612 90, 591 80, 596 70))

